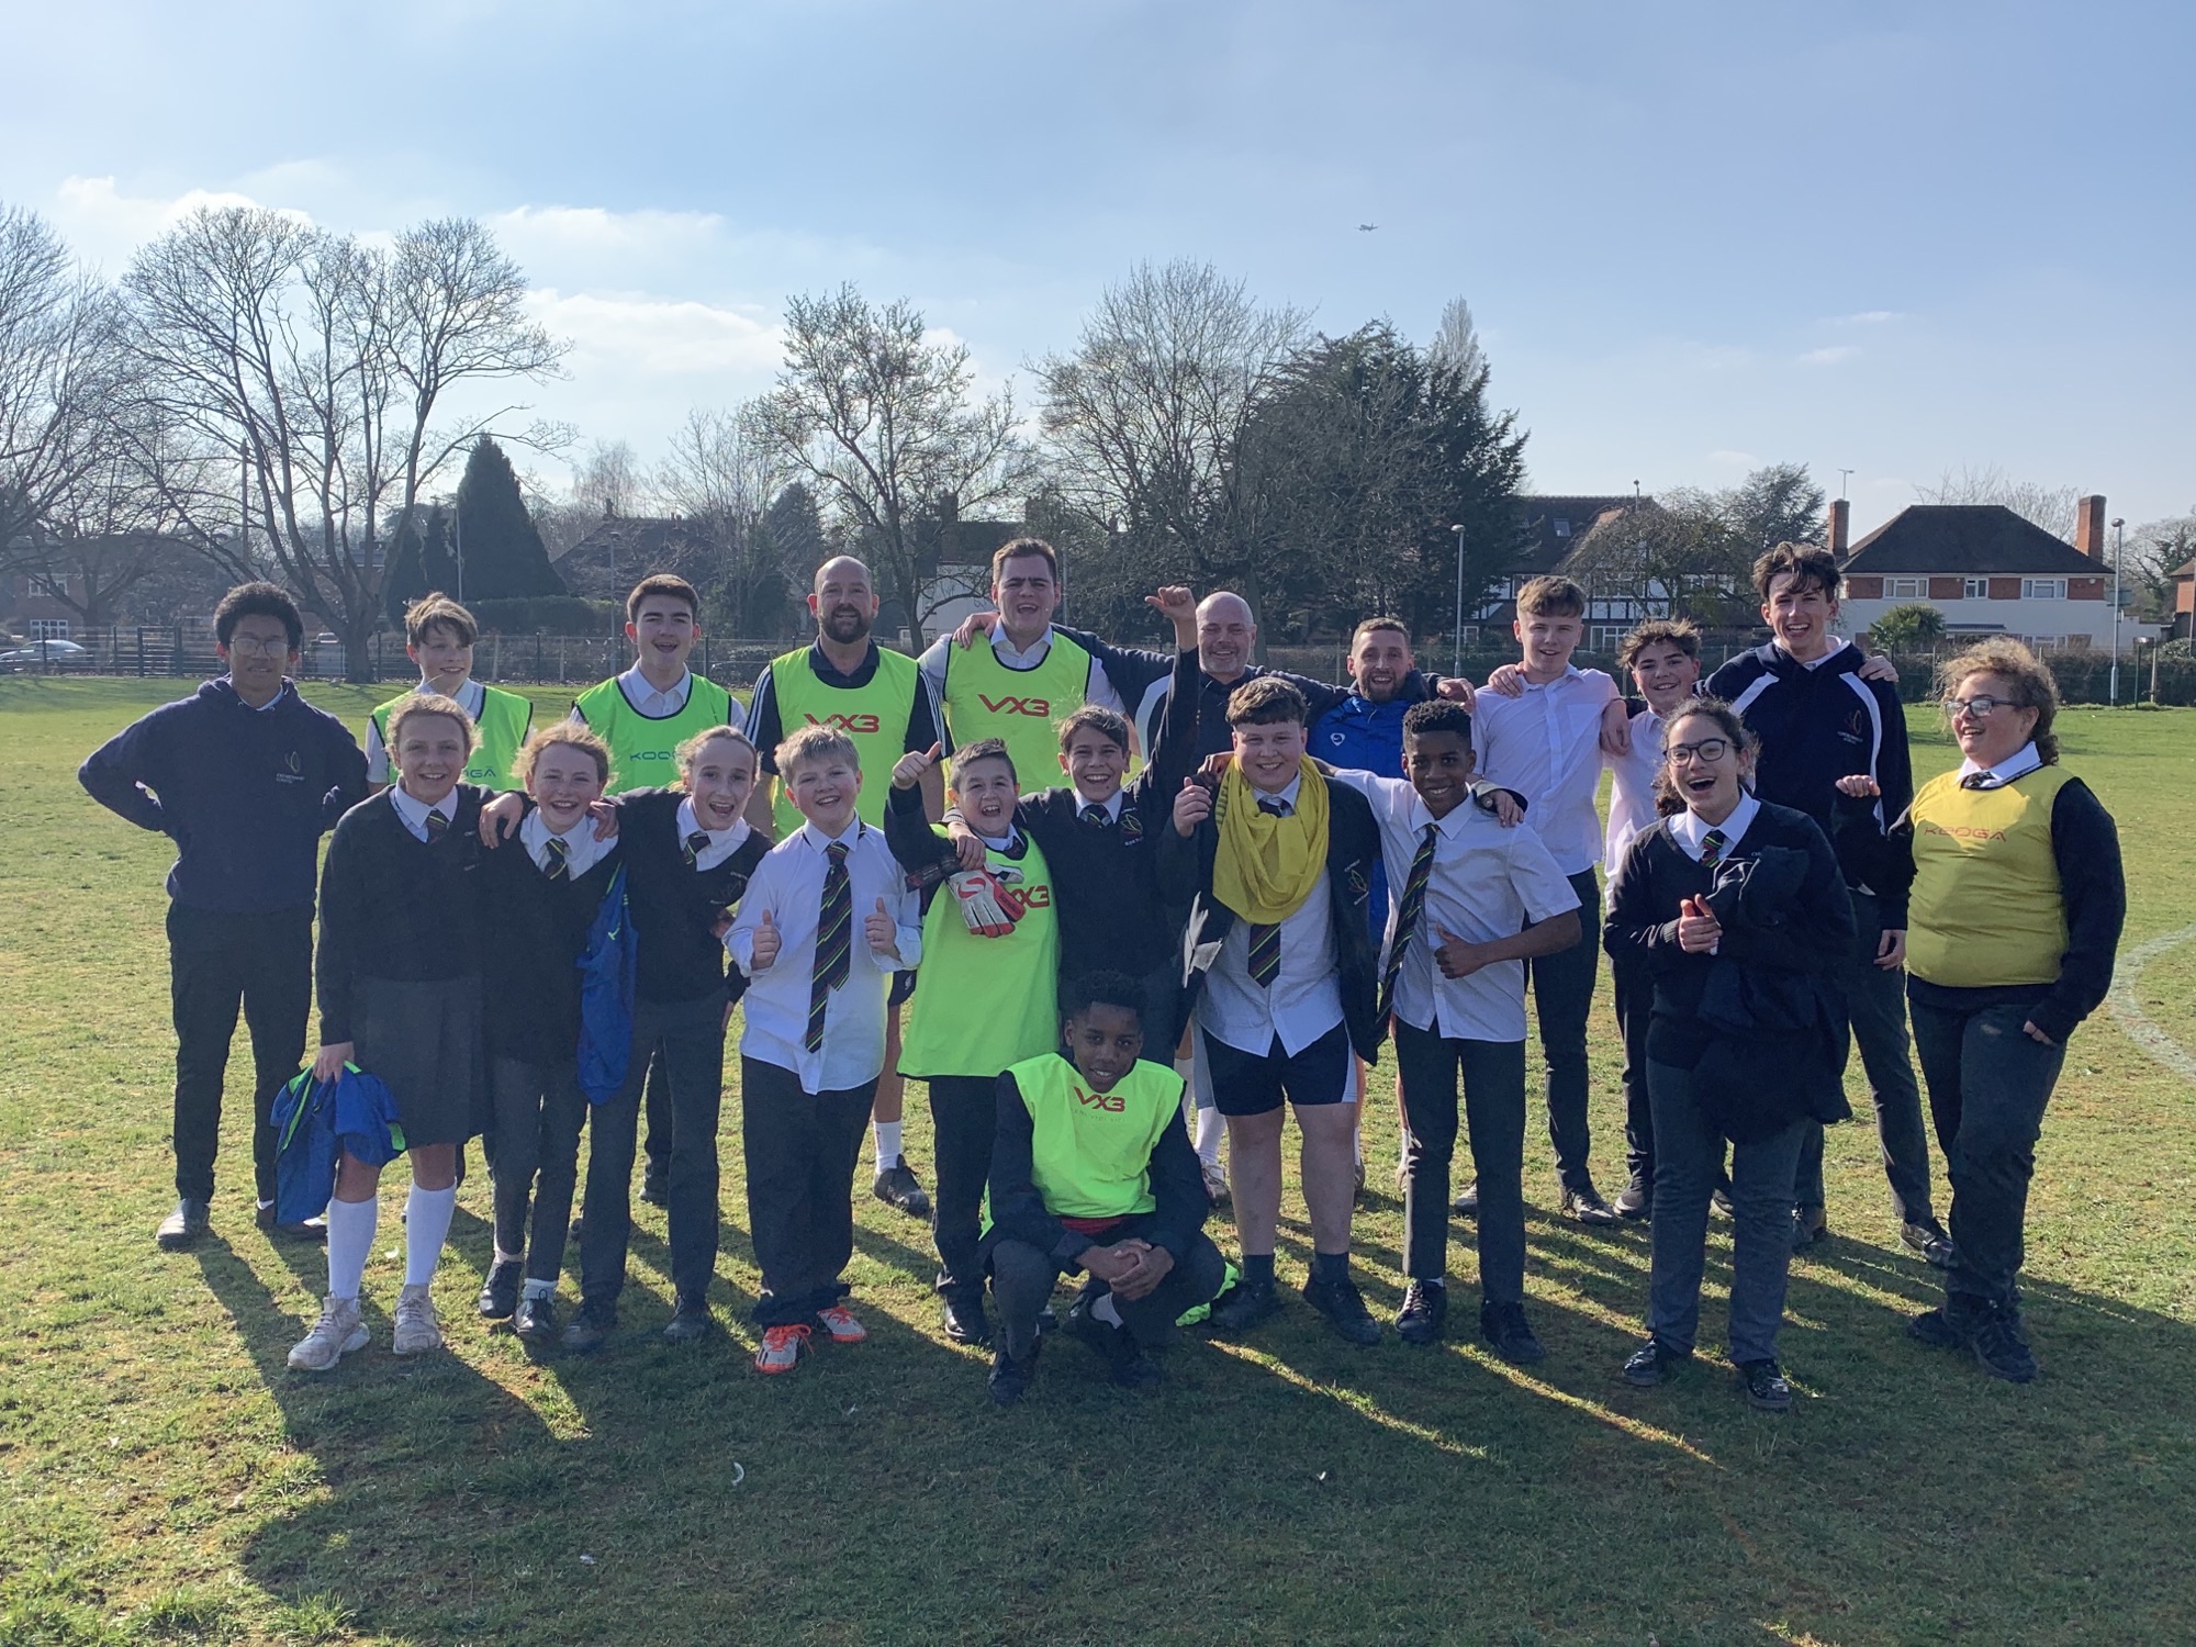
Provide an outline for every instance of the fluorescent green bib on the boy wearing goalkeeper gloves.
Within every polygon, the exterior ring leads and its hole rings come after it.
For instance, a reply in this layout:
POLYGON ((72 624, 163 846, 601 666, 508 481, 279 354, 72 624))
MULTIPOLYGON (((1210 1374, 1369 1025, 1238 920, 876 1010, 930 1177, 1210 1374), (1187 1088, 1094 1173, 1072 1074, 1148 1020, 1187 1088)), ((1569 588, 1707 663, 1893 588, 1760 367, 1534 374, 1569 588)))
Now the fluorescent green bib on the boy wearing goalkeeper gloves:
POLYGON ((995 1076, 1058 1043, 1061 931, 1045 854, 1023 841, 1019 859, 993 852, 990 867, 1019 876, 1006 885, 1028 907, 1006 938, 977 938, 962 922, 953 887, 931 898, 900 1043, 903 1076, 995 1076))

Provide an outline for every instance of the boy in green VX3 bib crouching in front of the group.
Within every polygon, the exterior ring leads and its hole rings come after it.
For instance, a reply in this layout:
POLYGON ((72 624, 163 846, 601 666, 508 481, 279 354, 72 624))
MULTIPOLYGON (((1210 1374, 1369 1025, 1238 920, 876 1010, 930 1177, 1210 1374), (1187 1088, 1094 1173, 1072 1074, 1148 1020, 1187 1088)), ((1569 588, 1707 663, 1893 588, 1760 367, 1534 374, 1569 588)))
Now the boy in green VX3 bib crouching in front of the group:
POLYGON ((999 1076, 984 1252, 999 1304, 990 1399, 1010 1408, 1037 1368, 1037 1318, 1063 1271, 1083 1296, 1063 1322, 1113 1383, 1159 1381, 1151 1351, 1212 1300, 1225 1263, 1203 1234, 1206 1188, 1181 1124, 1181 1076, 1146 1063, 1144 986, 1089 973, 1063 990, 1067 1047, 999 1076))

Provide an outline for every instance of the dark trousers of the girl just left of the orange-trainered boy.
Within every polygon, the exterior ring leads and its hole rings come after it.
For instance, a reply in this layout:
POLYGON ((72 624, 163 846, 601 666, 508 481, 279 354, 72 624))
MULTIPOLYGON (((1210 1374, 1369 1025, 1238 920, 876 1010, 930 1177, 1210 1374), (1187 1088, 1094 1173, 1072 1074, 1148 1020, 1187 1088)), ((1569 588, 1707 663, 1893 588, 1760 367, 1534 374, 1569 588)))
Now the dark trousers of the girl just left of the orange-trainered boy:
POLYGON ((586 1157, 586 1223, 580 1234, 580 1296, 615 1304, 626 1287, 632 1241, 632 1155, 639 1142, 648 1063, 663 1056, 670 1083, 670 1247, 672 1289, 705 1298, 716 1276, 716 1120, 725 1096, 725 997, 635 1001, 632 1061, 626 1085, 595 1105, 595 1146, 586 1157))

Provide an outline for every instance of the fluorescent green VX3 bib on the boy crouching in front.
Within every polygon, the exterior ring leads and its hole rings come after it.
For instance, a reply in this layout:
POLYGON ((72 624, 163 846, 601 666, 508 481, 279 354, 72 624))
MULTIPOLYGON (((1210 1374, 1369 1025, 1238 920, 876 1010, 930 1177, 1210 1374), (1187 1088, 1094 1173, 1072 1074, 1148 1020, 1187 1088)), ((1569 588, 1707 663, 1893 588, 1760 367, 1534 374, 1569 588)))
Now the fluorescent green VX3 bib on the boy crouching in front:
POLYGON ((1030 1111, 1030 1166, 1056 1219, 1151 1212, 1151 1151, 1181 1109, 1181 1076, 1138 1058, 1113 1091, 1091 1091, 1058 1052, 1010 1072, 1030 1111))

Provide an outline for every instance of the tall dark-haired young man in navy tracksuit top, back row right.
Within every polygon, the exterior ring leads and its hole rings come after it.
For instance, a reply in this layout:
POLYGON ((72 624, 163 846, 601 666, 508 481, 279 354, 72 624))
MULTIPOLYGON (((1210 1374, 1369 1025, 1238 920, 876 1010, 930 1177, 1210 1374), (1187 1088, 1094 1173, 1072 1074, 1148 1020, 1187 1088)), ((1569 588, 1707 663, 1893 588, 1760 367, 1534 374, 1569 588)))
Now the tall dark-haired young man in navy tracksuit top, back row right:
MULTIPOLYGON (((1836 982, 1869 1074, 1884 1177, 1902 1241, 1932 1265, 1946 1265, 1952 1245, 1930 1208, 1928 1133, 1906 1039, 1906 900, 1904 894, 1878 896, 1858 863, 1858 843, 1840 841, 1834 828, 1840 777, 1864 773, 1882 786, 1878 830, 1913 802, 1906 712, 1895 687, 1860 676, 1860 648, 1831 632, 1838 584, 1838 562, 1827 549, 1783 542, 1761 556, 1755 593, 1777 639, 1730 659, 1708 676, 1706 692, 1730 703, 1761 740, 1755 793, 1820 824, 1845 861, 1858 935, 1836 982)), ((1820 1127, 1810 1129, 1801 1149, 1794 1199, 1792 1243, 1805 1247, 1827 1230, 1820 1127)))

